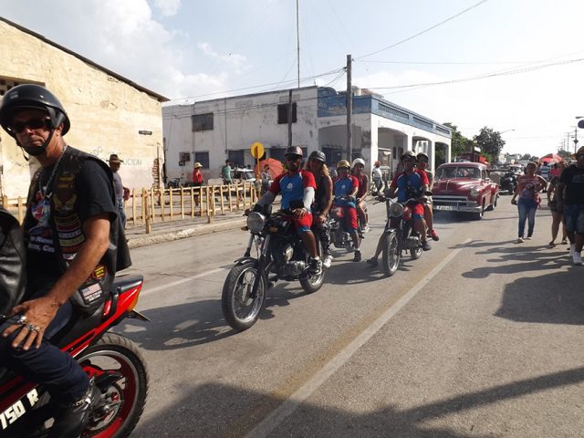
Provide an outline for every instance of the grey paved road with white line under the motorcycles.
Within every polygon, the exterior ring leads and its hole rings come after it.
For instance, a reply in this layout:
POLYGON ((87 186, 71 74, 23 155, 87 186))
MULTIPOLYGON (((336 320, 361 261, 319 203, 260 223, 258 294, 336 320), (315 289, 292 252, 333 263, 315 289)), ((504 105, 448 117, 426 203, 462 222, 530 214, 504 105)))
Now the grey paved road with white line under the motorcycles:
MULTIPOLYGON (((370 207, 372 253, 383 222, 370 207)), ((561 437, 584 431, 584 290, 550 217, 514 244, 509 197, 391 278, 338 253, 327 284, 278 284, 234 335, 220 296, 240 231, 132 250, 150 323, 120 330, 151 370, 140 437, 561 437)))

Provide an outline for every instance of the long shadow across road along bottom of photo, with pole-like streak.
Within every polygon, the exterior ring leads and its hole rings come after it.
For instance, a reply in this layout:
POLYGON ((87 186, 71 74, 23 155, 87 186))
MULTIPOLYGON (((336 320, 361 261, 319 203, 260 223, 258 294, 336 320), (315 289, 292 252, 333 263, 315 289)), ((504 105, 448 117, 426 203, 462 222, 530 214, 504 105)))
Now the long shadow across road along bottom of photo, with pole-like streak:
MULTIPOLYGON (((576 385, 583 381, 584 368, 575 368, 431 401, 406 410, 398 409, 391 405, 390 401, 384 403, 382 409, 364 415, 334 407, 323 409, 308 402, 301 402, 297 405, 296 412, 287 417, 269 436, 310 438, 495 436, 493 433, 496 431, 481 434, 478 431, 470 432, 471 428, 470 431, 463 432, 452 428, 433 427, 429 423, 450 414, 553 388, 576 385)), ((152 395, 154 394, 151 393, 152 395)), ((351 394, 344 394, 344 397, 351 400, 351 394)), ((174 401, 172 406, 162 412, 154 412, 151 414, 151 420, 140 422, 135 436, 242 437, 282 403, 282 399, 271 395, 219 384, 206 384, 193 388, 192 392, 174 401)))

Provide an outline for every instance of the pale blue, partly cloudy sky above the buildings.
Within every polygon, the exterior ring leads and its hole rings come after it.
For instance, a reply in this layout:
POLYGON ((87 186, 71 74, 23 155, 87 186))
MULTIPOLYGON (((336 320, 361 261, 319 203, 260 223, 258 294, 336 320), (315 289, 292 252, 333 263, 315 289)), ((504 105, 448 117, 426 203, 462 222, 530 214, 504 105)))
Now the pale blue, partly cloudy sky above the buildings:
MULTIPOLYGON (((0 0, 0 11, 176 102, 297 85, 295 0, 0 0)), ((584 116, 582 17, 581 0, 300 0, 301 84, 344 89, 351 54, 354 85, 543 155, 584 116), (436 82, 449 83, 395 88, 436 82)))

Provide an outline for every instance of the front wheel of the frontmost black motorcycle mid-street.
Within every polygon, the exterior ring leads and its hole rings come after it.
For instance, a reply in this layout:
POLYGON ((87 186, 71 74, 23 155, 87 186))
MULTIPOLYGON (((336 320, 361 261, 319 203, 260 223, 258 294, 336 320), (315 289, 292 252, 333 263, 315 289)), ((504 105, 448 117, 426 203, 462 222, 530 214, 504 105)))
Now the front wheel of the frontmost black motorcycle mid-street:
POLYGON ((257 272, 257 262, 248 261, 234 266, 225 278, 221 307, 227 324, 235 331, 244 331, 255 324, 266 298, 264 276, 257 272), (254 296, 255 276, 260 276, 254 296))

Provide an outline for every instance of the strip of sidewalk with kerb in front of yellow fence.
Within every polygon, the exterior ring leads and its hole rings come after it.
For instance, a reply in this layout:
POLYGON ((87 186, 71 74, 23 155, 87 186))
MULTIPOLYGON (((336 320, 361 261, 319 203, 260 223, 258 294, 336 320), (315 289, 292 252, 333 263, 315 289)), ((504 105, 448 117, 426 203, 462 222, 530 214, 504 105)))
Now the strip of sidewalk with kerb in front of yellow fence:
POLYGON ((196 235, 207 235, 221 231, 234 230, 245 225, 243 211, 227 212, 212 217, 211 224, 207 216, 195 216, 188 219, 165 221, 159 218, 151 223, 151 233, 146 234, 145 224, 126 225, 126 239, 130 248, 139 248, 146 245, 161 244, 172 240, 186 239, 196 235))

